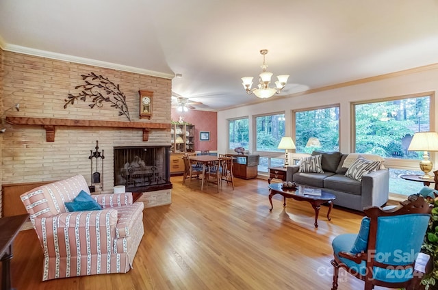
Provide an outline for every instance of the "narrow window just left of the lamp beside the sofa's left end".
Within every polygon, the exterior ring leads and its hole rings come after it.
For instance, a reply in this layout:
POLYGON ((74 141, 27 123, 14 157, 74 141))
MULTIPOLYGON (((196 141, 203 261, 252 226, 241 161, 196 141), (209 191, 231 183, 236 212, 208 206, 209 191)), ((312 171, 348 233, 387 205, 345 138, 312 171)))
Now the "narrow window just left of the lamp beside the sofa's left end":
POLYGON ((285 114, 255 117, 255 150, 284 151, 278 149, 281 137, 285 135, 285 114))

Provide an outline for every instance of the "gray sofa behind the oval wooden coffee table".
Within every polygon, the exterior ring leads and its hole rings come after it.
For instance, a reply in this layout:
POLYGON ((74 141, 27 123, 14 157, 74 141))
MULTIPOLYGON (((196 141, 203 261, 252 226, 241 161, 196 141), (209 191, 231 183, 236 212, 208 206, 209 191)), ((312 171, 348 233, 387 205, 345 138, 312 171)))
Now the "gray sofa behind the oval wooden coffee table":
POLYGON ((324 173, 298 172, 299 166, 287 168, 286 180, 324 189, 336 196, 335 205, 363 211, 365 207, 381 207, 389 199, 389 171, 376 170, 363 175, 361 181, 351 179, 342 167, 348 154, 339 152, 323 153, 313 151, 312 155, 322 155, 321 167, 324 173))

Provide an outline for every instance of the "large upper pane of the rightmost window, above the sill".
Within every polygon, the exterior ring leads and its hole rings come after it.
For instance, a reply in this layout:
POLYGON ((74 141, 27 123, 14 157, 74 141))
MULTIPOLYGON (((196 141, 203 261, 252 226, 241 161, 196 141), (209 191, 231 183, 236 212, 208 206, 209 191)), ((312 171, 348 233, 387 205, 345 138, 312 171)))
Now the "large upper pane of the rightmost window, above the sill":
POLYGON ((355 152, 420 159, 408 151, 415 132, 430 131, 430 95, 353 104, 355 152))

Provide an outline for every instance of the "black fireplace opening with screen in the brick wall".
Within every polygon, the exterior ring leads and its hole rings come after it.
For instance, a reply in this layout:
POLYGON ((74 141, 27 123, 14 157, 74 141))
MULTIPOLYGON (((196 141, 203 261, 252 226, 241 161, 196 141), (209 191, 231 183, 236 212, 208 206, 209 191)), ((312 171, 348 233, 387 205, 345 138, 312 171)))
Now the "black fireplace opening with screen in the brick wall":
POLYGON ((126 192, 153 192, 172 188, 170 146, 114 147, 114 186, 126 192))

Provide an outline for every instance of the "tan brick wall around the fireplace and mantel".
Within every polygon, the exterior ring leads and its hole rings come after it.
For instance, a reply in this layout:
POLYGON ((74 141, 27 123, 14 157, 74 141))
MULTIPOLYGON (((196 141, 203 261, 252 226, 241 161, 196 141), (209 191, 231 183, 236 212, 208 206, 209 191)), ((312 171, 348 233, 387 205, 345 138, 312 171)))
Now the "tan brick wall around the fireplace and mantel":
MULTIPOLYGON (((120 91, 126 96, 132 122, 170 124, 170 79, 10 51, 1 51, 0 56, 4 72, 1 84, 3 101, 0 106, 8 108, 20 103, 20 111, 8 111, 8 116, 127 122, 127 117, 118 116, 118 110, 110 107, 110 103, 104 102, 102 107, 91 109, 88 106, 91 101, 87 99, 86 102, 79 101, 64 109, 68 93, 80 92, 75 86, 84 83, 81 75, 94 72, 120 85, 120 91), (138 90, 154 92, 151 120, 139 118, 138 90)), ((104 150, 105 155, 103 192, 111 192, 114 185, 114 146, 170 145, 170 130, 157 129, 150 131, 148 142, 142 142, 141 129, 56 127, 55 142, 46 142, 46 131, 42 126, 8 124, 2 137, 2 184, 52 181, 75 174, 83 174, 90 183, 91 172, 96 171, 96 168, 90 168, 88 156, 90 150, 94 151, 96 140, 99 140, 99 150, 104 150)))

